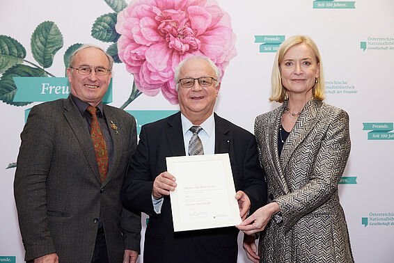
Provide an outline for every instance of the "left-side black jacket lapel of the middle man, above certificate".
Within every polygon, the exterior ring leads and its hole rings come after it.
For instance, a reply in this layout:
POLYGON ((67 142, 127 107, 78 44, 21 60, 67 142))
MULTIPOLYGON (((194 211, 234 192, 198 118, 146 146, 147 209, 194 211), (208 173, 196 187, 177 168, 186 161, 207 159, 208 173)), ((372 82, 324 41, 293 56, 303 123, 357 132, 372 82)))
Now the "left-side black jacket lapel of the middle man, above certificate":
POLYGON ((180 112, 172 115, 168 119, 168 128, 166 129, 167 144, 171 150, 170 156, 184 156, 184 143, 182 134, 182 122, 180 120, 180 112))

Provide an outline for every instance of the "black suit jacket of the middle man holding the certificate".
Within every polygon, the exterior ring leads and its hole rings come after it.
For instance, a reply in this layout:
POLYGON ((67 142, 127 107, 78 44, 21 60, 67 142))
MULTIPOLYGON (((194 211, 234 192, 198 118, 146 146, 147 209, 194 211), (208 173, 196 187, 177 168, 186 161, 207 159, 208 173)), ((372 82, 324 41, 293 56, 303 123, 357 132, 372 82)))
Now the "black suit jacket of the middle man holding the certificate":
MULTIPOLYGON (((230 155, 236 191, 251 199, 251 212, 266 201, 264 173, 255 138, 249 132, 214 115, 215 153, 230 155)), ((144 125, 122 190, 123 205, 150 216, 145 232, 144 263, 237 262, 235 227, 185 232, 173 231, 171 202, 164 197, 161 214, 152 205, 155 177, 167 170, 166 157, 185 155, 180 113, 144 125)))

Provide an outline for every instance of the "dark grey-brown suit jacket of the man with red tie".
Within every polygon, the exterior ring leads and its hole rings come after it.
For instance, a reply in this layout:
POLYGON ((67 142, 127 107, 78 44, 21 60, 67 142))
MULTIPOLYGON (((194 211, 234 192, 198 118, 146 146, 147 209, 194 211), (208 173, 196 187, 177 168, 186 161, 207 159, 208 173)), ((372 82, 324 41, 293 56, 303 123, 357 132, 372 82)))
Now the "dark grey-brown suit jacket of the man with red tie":
POLYGON ((110 262, 139 251, 141 213, 123 209, 120 189, 136 148, 132 115, 103 105, 113 141, 113 164, 102 184, 95 150, 72 99, 34 106, 15 173, 15 201, 26 260, 57 253, 60 262, 90 262, 102 212, 110 262), (118 134, 110 122, 118 127, 118 134))

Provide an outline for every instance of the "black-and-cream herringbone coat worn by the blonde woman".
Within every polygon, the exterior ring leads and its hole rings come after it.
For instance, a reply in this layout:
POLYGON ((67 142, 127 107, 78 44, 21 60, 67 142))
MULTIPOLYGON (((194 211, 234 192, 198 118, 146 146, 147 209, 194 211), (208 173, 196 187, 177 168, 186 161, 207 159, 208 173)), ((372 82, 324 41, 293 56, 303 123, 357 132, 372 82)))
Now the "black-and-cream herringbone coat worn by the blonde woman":
POLYGON ((349 116, 311 99, 278 153, 287 102, 255 119, 255 137, 269 202, 283 222, 260 233, 260 262, 354 262, 338 183, 350 152, 349 116))

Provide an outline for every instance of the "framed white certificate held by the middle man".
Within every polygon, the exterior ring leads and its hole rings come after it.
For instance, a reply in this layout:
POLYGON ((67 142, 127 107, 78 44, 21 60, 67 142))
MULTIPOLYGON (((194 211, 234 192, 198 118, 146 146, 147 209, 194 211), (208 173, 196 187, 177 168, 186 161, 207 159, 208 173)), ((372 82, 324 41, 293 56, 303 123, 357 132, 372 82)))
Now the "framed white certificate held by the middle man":
POLYGON ((166 157, 166 162, 177 183, 170 192, 175 232, 242 222, 227 153, 166 157))

